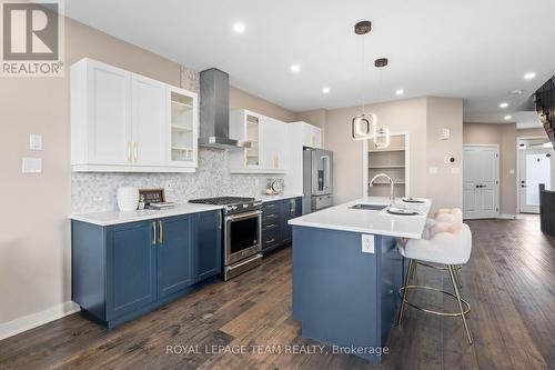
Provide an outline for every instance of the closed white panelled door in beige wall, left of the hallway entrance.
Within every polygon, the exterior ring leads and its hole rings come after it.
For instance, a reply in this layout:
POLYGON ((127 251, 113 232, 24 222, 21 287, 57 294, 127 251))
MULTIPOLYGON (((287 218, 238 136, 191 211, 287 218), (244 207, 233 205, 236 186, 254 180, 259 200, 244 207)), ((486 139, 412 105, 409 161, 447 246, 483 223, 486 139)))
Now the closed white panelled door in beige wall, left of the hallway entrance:
POLYGON ((465 146, 463 213, 465 219, 500 214, 500 153, 496 146, 465 146))

